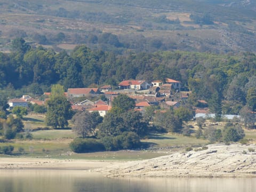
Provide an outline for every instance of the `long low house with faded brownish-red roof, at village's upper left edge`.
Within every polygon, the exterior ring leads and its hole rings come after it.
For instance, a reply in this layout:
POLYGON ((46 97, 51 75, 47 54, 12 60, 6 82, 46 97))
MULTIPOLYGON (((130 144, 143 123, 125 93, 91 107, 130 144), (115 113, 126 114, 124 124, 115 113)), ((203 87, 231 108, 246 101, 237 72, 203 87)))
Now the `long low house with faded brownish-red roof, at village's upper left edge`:
POLYGON ((67 92, 68 98, 84 97, 89 94, 100 94, 100 90, 98 88, 70 88, 67 92))

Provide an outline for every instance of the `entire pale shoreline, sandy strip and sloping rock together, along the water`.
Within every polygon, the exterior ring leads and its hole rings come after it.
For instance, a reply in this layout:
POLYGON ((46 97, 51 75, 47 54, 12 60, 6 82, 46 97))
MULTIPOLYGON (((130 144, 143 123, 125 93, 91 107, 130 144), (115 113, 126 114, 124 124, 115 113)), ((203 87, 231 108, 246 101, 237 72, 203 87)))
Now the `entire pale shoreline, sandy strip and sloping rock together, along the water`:
POLYGON ((139 161, 50 158, 0 158, 0 170, 81 170, 105 177, 255 178, 256 145, 208 145, 207 149, 139 161), (244 151, 247 150, 246 153, 244 151))

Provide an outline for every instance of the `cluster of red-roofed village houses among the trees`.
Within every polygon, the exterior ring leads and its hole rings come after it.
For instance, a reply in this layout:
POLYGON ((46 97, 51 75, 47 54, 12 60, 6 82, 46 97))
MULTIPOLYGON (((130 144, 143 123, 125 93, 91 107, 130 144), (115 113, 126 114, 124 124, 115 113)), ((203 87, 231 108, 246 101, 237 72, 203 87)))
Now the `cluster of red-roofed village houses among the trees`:
MULTIPOLYGON (((111 102, 118 94, 127 94, 135 101, 135 110, 143 113, 146 107, 160 106, 161 108, 179 107, 180 102, 188 99, 188 92, 181 92, 181 82, 166 78, 165 81, 153 81, 149 84, 146 81, 125 80, 119 83, 118 89, 113 90, 110 85, 99 88, 70 88, 65 93, 66 97, 73 101, 78 97, 95 97, 104 94, 106 101, 90 101, 86 99, 82 102, 71 102, 73 110, 98 111, 104 117, 111 109, 111 102), (140 92, 144 90, 143 92, 140 92), (145 91, 146 90, 146 91, 145 91)), ((49 95, 50 93, 44 93, 49 95)), ((99 97, 98 97, 99 98, 99 97)), ((10 109, 15 106, 28 107, 28 103, 44 105, 44 101, 31 98, 29 95, 23 95, 20 99, 9 100, 10 109)))

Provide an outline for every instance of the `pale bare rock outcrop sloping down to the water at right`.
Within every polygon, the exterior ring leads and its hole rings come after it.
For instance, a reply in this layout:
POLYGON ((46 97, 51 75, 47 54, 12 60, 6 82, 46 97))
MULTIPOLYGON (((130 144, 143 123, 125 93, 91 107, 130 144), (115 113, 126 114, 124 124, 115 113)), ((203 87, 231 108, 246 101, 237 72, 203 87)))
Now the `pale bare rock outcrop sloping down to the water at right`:
POLYGON ((108 177, 256 177, 255 145, 208 145, 97 169, 108 177))

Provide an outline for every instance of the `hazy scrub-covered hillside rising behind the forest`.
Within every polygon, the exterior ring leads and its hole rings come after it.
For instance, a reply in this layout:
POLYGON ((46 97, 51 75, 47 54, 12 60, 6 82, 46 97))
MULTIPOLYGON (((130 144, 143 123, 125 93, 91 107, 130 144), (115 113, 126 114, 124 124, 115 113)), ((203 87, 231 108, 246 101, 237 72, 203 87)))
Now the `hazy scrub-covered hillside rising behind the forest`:
POLYGON ((256 51, 252 1, 4 1, 0 51, 15 37, 71 50, 77 44, 115 51, 256 51), (113 38, 105 41, 103 34, 113 38))

